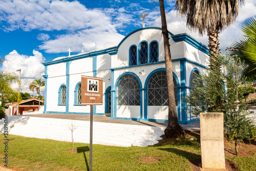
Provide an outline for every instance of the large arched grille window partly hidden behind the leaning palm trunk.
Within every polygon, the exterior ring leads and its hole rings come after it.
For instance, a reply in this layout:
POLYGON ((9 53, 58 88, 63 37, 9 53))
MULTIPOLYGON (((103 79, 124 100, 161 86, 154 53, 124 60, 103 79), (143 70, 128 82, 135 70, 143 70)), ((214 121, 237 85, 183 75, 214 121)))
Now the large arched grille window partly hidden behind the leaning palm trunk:
MULTIPOLYGON (((176 105, 178 105, 177 82, 175 77, 173 77, 173 80, 175 103, 176 105)), ((155 74, 153 74, 150 80, 148 80, 147 87, 148 105, 168 105, 166 71, 158 71, 155 74)))

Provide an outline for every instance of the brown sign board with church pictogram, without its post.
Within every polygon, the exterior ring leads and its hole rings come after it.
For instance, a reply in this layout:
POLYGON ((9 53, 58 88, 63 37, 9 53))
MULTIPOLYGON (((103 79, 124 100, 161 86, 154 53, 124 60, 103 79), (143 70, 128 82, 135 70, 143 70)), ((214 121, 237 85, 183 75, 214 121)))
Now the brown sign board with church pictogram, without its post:
POLYGON ((81 76, 81 104, 103 104, 103 78, 81 76))

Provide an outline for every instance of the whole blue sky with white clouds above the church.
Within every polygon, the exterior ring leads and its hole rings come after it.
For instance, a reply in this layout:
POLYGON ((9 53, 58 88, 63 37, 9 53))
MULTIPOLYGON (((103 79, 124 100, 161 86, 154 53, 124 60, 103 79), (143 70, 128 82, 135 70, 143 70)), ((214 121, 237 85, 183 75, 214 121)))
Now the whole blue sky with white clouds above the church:
MULTIPOLYGON (((30 94, 29 83, 44 75, 42 62, 68 56, 69 48, 74 55, 118 45, 125 35, 142 27, 142 11, 148 14, 145 27, 161 27, 158 1, 155 7, 151 0, 0 0, 0 4, 0 57, 8 61, 0 70, 22 69, 22 89, 30 94)), ((165 1, 168 30, 187 32, 207 45, 207 36, 186 29, 186 20, 177 16, 174 5, 175 1, 165 1)), ((255 15, 256 2, 245 0, 237 22, 219 35, 221 50, 241 38, 241 23, 255 15)))

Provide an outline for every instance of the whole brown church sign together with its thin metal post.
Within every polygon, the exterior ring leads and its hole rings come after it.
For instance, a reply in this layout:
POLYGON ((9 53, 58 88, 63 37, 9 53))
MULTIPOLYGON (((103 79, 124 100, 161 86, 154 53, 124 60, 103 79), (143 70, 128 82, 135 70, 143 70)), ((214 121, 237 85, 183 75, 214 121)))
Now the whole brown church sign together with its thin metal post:
POLYGON ((81 76, 81 104, 91 105, 90 110, 90 171, 93 164, 93 105, 103 104, 103 78, 81 76))

